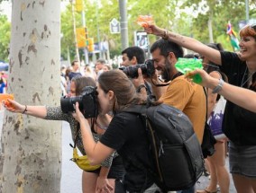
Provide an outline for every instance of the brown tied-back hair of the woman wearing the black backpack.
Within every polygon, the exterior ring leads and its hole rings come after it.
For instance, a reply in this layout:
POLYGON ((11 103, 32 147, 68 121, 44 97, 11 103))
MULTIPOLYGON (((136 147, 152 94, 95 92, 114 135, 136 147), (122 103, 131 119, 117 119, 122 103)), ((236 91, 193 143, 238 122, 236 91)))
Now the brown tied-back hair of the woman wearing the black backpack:
POLYGON ((114 92, 114 112, 142 101, 142 96, 137 94, 132 81, 121 70, 104 72, 99 76, 97 82, 105 93, 114 92))

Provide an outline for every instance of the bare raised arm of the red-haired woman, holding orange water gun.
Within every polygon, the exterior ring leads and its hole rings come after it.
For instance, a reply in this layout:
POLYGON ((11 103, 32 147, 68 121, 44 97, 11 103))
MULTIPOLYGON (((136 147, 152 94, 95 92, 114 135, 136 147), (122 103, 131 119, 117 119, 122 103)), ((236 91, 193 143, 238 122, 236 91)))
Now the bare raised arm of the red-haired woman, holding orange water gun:
POLYGON ((214 48, 207 47, 205 44, 201 43, 197 39, 192 39, 172 31, 167 31, 154 24, 148 25, 147 28, 144 28, 144 31, 146 31, 149 34, 160 36, 163 39, 169 39, 177 43, 181 47, 193 50, 198 54, 207 57, 210 61, 214 62, 215 64, 221 65, 220 52, 214 48))

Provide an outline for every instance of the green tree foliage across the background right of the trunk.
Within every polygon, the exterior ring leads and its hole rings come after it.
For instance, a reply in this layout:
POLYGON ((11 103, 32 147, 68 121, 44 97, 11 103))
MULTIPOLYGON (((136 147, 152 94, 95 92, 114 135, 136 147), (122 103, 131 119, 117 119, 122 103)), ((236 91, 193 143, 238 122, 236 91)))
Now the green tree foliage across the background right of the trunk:
MULTIPOLYGON (((110 56, 121 53, 121 34, 111 34, 109 22, 115 18, 120 21, 118 0, 84 0, 85 16, 88 36, 94 41, 107 40, 110 46, 110 56)), ((250 17, 256 17, 255 0, 250 1, 250 17)), ((233 50, 226 35, 228 21, 238 33, 238 22, 245 20, 244 0, 129 0, 127 1, 129 46, 133 46, 134 31, 143 31, 135 21, 138 15, 150 14, 154 21, 162 28, 176 31, 186 36, 194 37, 204 43, 209 42, 208 20, 212 12, 213 36, 215 42, 221 42, 227 50, 233 50), (186 8, 190 8, 188 12, 186 8), (184 10, 186 9, 186 10, 184 10), (194 18, 194 15, 197 15, 194 18)), ((81 13, 76 13, 77 27, 82 27, 81 13)), ((72 13, 70 5, 65 13, 61 14, 61 54, 67 58, 67 49, 70 56, 75 53, 72 13)), ((157 37, 149 35, 153 43, 157 37)))

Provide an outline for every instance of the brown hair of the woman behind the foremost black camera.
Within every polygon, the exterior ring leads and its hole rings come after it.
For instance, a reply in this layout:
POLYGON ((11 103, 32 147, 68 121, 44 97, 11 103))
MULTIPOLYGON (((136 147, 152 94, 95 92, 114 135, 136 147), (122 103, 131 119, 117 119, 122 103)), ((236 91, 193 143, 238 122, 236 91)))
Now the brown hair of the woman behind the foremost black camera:
POLYGON ((75 76, 74 78, 72 78, 71 81, 74 82, 76 85, 76 95, 77 96, 82 94, 82 92, 86 86, 96 87, 96 81, 91 77, 85 77, 85 76, 78 75, 78 76, 75 76))

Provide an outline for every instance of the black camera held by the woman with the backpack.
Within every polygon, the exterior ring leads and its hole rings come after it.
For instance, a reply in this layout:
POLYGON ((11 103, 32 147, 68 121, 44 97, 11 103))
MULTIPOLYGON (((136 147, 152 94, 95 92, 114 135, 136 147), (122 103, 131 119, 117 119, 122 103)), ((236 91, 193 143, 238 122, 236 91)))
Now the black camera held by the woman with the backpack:
POLYGON ((98 114, 96 87, 86 86, 82 94, 76 97, 62 97, 60 99, 62 112, 68 113, 75 111, 77 101, 79 103, 79 110, 85 118, 96 118, 98 114))

